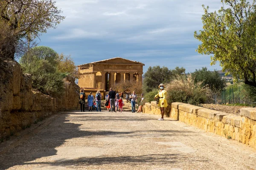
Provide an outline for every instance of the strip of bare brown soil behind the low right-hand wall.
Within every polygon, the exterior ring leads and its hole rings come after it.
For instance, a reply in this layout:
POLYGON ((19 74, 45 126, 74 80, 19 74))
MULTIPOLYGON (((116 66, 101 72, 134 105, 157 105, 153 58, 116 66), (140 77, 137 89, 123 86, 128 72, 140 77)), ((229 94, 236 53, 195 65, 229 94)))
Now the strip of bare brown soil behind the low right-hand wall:
POLYGON ((250 106, 230 106, 230 105, 215 105, 215 104, 200 104, 200 107, 209 108, 215 111, 239 115, 241 108, 250 108, 250 106))

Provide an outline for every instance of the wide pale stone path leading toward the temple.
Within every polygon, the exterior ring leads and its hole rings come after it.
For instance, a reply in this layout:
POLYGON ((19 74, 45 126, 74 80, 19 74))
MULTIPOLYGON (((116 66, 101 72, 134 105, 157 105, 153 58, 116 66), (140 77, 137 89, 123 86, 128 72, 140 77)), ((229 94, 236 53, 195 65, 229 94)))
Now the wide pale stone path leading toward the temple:
POLYGON ((0 170, 253 170, 256 150, 142 113, 63 112, 0 143, 0 170))

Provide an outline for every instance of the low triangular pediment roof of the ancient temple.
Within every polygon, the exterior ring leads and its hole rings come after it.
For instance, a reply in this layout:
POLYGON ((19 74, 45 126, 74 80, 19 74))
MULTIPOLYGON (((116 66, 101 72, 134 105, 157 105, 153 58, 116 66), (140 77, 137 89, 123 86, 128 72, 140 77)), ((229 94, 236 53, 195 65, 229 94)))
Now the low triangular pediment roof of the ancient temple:
POLYGON ((78 65, 78 67, 83 67, 83 66, 86 66, 86 65, 89 65, 89 64, 100 64, 100 63, 109 63, 109 64, 111 64, 111 63, 113 63, 113 64, 127 63, 127 64, 145 65, 142 62, 132 61, 132 60, 124 59, 124 58, 121 58, 121 57, 115 57, 115 58, 111 58, 111 59, 104 59, 104 60, 101 60, 101 61, 90 62, 90 63, 87 63, 87 64, 78 65))

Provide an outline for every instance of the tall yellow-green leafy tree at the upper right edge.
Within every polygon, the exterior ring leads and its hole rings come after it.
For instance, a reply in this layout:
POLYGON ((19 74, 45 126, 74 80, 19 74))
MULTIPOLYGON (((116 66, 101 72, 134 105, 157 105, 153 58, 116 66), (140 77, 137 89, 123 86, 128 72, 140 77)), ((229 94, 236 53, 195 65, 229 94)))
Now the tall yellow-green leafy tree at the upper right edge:
POLYGON ((256 87, 256 6, 246 0, 221 0, 218 12, 204 8, 203 30, 195 31, 202 42, 198 53, 212 54, 211 65, 220 62, 222 71, 243 77, 244 83, 256 87), (224 6, 228 8, 224 8, 224 6))

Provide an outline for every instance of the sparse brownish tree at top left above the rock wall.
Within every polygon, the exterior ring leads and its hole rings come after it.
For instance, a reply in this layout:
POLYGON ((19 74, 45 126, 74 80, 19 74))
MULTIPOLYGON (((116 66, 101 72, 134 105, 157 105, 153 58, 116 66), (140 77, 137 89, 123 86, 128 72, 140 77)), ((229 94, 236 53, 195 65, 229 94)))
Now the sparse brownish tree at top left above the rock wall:
POLYGON ((6 57, 14 59, 17 44, 29 34, 39 37, 64 20, 61 10, 52 0, 1 0, 0 22, 9 27, 14 41, 9 48, 0 48, 6 57))

